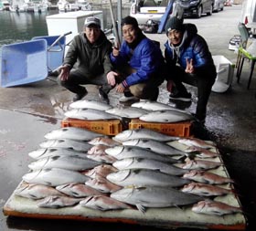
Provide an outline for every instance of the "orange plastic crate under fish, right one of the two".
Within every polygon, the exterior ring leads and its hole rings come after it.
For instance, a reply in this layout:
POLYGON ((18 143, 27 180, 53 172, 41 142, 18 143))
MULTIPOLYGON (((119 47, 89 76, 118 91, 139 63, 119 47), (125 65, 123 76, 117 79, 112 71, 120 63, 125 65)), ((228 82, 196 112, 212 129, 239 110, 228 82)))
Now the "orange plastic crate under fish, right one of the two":
POLYGON ((189 137, 192 136, 192 122, 176 122, 176 123, 159 123, 159 122, 144 122, 138 119, 134 119, 129 123, 129 129, 151 129, 159 131, 161 133, 179 136, 189 137))

